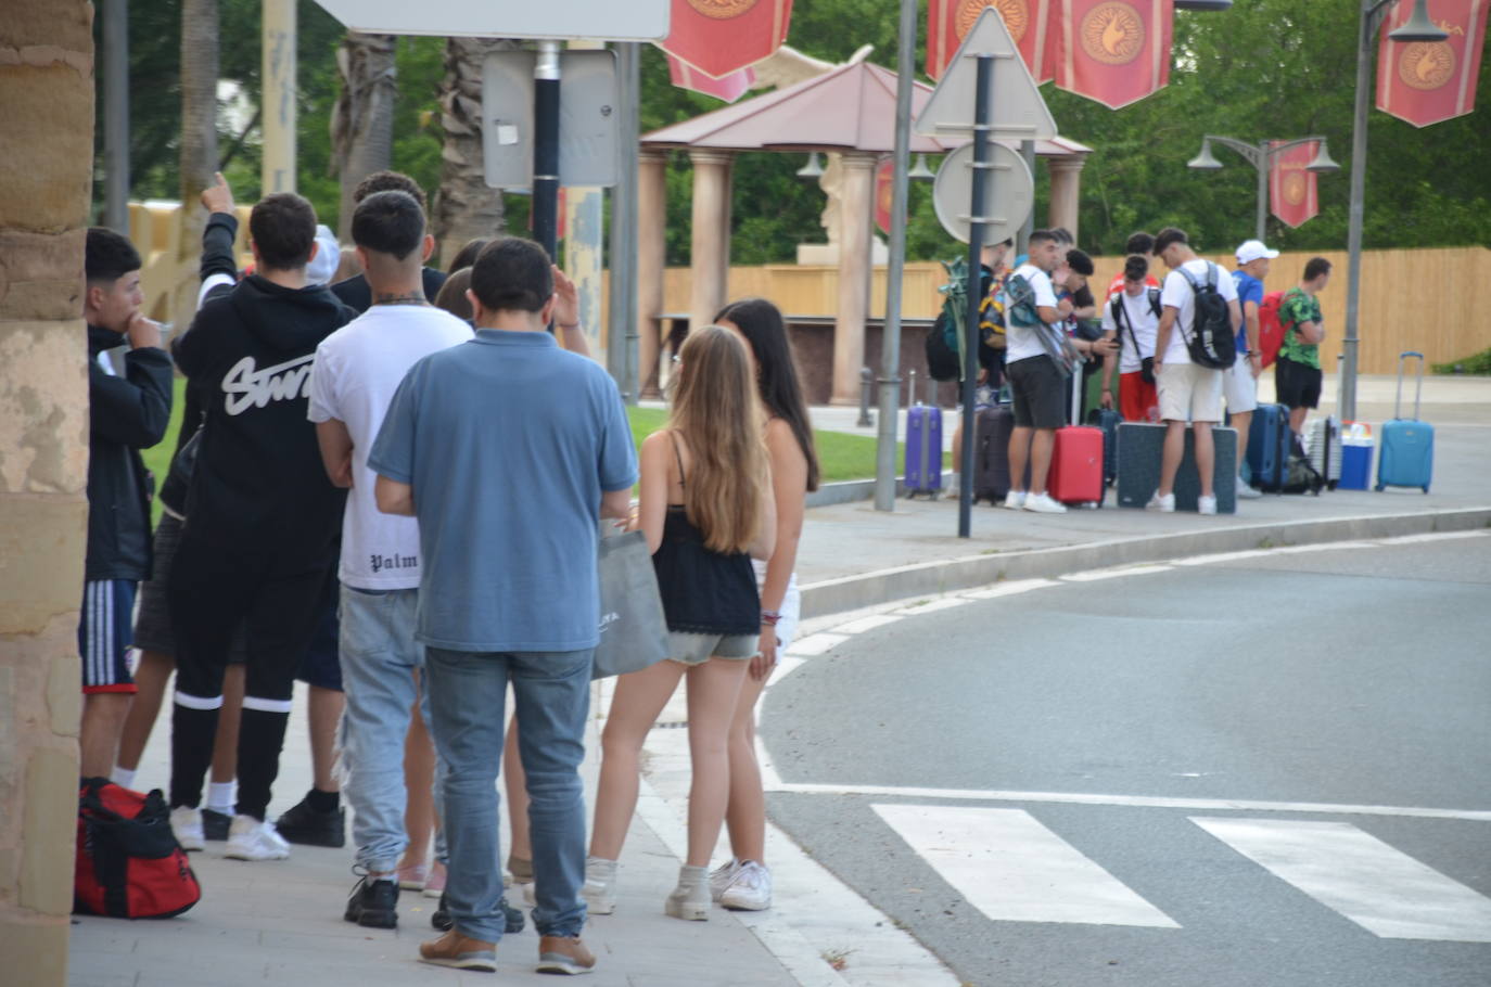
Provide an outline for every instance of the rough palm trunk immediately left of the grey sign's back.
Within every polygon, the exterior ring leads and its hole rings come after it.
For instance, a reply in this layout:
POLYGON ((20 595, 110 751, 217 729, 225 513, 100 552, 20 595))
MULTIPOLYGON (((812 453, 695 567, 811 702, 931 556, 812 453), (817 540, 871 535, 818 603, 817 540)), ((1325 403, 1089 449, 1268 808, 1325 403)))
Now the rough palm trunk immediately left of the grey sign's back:
POLYGON ((473 237, 502 230, 502 195, 488 188, 482 164, 482 60, 513 48, 495 37, 446 42, 446 78, 440 85, 440 124, 446 131, 434 230, 441 258, 455 256, 473 237))

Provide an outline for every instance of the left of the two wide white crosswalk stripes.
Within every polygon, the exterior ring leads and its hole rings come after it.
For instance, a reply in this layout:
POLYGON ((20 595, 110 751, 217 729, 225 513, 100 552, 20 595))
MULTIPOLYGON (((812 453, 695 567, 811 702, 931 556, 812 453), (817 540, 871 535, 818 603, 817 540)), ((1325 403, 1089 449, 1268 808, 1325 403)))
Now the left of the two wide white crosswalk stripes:
POLYGON ((871 808, 994 921, 1179 929, 1029 813, 899 804, 871 808))

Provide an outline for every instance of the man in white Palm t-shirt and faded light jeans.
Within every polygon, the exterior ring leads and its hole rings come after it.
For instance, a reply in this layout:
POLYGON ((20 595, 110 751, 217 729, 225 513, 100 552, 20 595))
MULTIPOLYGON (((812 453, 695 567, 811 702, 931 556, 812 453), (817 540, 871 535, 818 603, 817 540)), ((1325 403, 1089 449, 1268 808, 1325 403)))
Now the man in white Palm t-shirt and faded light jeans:
POLYGON ((327 474, 350 488, 341 525, 341 674, 347 707, 344 786, 355 814, 356 863, 367 875, 346 918, 397 924, 397 866, 404 832, 404 737, 414 705, 419 525, 377 510, 367 465, 383 414, 404 374, 423 356, 471 338, 471 327, 425 298, 420 265, 434 247, 425 215, 407 192, 364 198, 352 239, 371 286, 368 310, 316 347, 309 417, 316 422, 327 474))

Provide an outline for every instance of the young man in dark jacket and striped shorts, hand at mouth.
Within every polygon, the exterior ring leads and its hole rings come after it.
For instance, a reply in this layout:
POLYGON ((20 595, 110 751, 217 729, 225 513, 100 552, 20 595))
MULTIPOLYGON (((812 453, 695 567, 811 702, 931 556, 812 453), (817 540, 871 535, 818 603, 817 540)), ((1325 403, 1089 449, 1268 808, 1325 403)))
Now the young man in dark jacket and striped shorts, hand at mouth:
POLYGON ((125 652, 136 586, 151 576, 151 491, 140 450, 161 441, 171 417, 171 359, 161 349, 161 327, 140 315, 140 267, 125 237, 88 231, 88 559, 78 622, 85 778, 107 777, 113 768, 134 695, 125 652), (130 352, 121 377, 100 353, 124 343, 130 352))

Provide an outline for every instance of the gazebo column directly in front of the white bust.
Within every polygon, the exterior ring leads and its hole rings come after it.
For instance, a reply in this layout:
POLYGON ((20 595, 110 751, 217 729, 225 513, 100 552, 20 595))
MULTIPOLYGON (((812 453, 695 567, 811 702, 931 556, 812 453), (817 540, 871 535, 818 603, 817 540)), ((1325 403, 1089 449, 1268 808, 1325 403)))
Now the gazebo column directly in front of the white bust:
POLYGON ((839 283, 833 321, 833 404, 859 404, 859 371, 865 365, 865 321, 869 318, 871 207, 875 157, 844 155, 839 186, 839 283))

